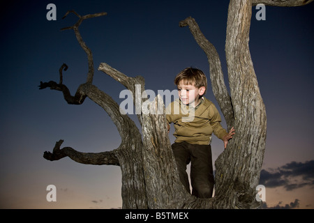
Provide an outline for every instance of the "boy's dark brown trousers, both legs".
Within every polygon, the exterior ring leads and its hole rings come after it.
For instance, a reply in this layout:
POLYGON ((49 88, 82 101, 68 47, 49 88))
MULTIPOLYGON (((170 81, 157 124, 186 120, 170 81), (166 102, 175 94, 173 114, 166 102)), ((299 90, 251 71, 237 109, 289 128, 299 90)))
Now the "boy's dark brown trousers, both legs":
POLYGON ((190 192, 186 165, 190 164, 192 194, 200 198, 210 198, 214 190, 211 145, 188 144, 183 141, 172 144, 181 183, 190 192))

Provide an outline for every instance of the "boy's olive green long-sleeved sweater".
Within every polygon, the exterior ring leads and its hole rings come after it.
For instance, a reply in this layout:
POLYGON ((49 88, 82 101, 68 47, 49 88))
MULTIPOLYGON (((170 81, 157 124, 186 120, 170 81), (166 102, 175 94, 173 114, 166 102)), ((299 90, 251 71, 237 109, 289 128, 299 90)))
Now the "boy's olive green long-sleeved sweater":
POLYGON ((175 142, 186 141, 189 144, 208 145, 211 134, 223 139, 227 131, 220 125, 221 118, 213 102, 206 98, 196 108, 181 105, 174 100, 166 109, 168 123, 174 123, 175 142))

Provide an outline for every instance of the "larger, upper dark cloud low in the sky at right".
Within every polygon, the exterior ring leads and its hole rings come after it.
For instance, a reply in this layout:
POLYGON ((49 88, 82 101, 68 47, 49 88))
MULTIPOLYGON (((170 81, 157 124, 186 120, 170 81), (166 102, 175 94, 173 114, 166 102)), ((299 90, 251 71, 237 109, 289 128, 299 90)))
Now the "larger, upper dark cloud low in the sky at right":
POLYGON ((290 162, 269 171, 262 169, 260 184, 265 187, 280 187, 291 191, 306 185, 314 187, 314 160, 307 162, 290 162))

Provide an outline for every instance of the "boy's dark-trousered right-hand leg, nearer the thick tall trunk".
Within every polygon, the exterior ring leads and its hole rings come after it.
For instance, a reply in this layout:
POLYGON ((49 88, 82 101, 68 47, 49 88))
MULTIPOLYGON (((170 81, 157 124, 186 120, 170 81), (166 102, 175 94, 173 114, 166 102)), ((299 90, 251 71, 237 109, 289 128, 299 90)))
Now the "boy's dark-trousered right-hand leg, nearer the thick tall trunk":
POLYGON ((211 145, 193 145, 191 153, 192 194, 200 198, 210 198, 214 190, 211 145))

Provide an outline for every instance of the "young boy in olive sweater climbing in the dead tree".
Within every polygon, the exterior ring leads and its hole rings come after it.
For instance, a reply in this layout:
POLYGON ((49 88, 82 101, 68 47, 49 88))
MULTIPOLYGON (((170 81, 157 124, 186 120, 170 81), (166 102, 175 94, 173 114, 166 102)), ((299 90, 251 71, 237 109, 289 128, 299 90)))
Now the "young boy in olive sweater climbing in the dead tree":
POLYGON ((207 78, 202 70, 186 68, 174 79, 179 100, 174 100, 166 109, 168 131, 174 123, 172 151, 177 162, 179 178, 190 192, 186 165, 191 162, 190 180, 192 194, 210 198, 214 189, 213 165, 211 160, 211 134, 222 139, 225 148, 234 134, 220 125, 220 115, 213 102, 203 97, 207 90, 207 78))

